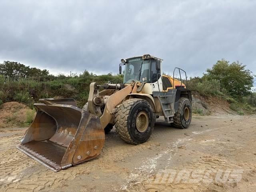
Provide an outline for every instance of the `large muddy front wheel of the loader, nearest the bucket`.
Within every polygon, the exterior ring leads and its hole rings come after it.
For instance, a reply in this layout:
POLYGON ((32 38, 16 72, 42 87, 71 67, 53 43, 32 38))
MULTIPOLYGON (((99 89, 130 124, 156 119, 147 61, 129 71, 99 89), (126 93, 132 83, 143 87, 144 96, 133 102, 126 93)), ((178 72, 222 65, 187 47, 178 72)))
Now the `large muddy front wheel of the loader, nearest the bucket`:
POLYGON ((115 116, 116 132, 127 143, 140 144, 150 138, 154 128, 154 113, 143 99, 129 99, 118 107, 115 116))

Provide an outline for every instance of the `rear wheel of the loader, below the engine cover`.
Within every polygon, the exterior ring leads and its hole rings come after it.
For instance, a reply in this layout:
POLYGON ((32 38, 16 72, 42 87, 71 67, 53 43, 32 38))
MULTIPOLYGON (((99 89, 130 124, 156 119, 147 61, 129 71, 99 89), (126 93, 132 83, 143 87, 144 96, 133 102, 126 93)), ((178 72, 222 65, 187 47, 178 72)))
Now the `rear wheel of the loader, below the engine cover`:
POLYGON ((174 114, 173 125, 176 128, 188 128, 192 118, 192 106, 188 98, 180 98, 178 111, 174 114))

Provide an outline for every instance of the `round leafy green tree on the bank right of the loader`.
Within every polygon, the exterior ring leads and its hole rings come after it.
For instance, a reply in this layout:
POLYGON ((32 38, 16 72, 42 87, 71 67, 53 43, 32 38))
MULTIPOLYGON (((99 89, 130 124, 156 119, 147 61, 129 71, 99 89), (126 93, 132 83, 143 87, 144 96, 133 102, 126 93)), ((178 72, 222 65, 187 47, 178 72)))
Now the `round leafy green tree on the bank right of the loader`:
POLYGON ((227 60, 218 60, 212 68, 208 68, 203 78, 217 79, 221 88, 236 98, 241 99, 251 93, 255 75, 245 68, 239 61, 230 63, 227 60))

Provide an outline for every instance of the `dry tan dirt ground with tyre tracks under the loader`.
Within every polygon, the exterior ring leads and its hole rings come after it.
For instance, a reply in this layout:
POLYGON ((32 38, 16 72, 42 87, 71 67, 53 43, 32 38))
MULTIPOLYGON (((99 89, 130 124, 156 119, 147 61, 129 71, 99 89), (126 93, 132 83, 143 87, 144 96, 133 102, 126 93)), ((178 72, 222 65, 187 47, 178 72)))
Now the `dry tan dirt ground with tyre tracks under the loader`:
POLYGON ((256 116, 193 116, 183 130, 158 121, 137 146, 112 130, 98 158, 56 173, 16 150, 24 132, 0 130, 0 191, 256 191, 256 116))

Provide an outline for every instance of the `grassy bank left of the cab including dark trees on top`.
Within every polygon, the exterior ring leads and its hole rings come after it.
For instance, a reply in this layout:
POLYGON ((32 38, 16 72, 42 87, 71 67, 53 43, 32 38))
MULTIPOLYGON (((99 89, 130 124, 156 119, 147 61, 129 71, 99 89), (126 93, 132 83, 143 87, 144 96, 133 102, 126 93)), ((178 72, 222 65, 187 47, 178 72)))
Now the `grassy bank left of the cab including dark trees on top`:
POLYGON ((91 82, 121 83, 123 79, 119 74, 98 76, 86 70, 80 75, 53 76, 47 70, 32 69, 30 72, 29 67, 24 70, 24 65, 17 62, 0 64, 0 104, 17 101, 32 108, 40 98, 57 97, 74 98, 82 107, 87 102, 91 82))

